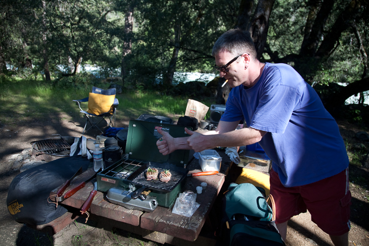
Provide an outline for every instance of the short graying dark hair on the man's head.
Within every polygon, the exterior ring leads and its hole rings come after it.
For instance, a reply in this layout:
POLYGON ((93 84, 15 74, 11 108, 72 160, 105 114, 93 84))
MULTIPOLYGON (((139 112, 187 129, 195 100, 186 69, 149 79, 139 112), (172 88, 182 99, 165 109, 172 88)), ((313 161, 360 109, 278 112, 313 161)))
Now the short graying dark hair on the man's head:
POLYGON ((255 44, 250 32, 241 29, 231 29, 224 32, 214 43, 211 55, 215 57, 223 51, 227 51, 234 56, 247 53, 253 59, 257 59, 255 44))

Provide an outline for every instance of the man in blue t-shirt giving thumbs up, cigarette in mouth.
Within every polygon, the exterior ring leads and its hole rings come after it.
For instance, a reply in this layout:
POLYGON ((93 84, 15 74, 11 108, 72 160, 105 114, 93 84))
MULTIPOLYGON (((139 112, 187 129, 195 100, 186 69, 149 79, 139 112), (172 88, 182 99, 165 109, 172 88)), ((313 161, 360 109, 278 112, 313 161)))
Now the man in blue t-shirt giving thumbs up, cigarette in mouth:
POLYGON ((260 63, 249 32, 223 33, 212 55, 220 76, 233 88, 218 127, 206 134, 186 129, 187 138, 159 131, 160 153, 259 142, 272 160, 270 193, 283 239, 288 220, 309 210, 335 245, 348 245, 349 160, 336 121, 315 90, 289 65, 260 63), (241 120, 248 128, 235 131, 241 120))

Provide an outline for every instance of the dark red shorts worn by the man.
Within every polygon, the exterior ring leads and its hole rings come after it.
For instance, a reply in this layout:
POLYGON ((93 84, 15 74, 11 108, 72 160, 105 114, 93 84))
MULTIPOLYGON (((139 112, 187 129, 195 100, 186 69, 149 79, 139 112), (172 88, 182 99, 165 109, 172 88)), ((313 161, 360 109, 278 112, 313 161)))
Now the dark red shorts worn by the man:
POLYGON ((283 186, 278 173, 271 170, 270 193, 275 201, 276 224, 308 210, 311 220, 329 235, 339 236, 350 230, 348 168, 332 177, 295 187, 283 186))

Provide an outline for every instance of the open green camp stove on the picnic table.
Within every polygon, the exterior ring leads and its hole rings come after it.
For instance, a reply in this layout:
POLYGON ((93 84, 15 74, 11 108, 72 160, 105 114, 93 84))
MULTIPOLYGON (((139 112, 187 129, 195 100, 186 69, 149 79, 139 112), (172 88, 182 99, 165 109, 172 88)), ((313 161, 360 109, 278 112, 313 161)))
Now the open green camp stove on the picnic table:
MULTIPOLYGON (((141 193, 149 193, 155 197, 158 206, 170 208, 178 195, 184 188, 188 170, 186 165, 189 161, 189 150, 176 150, 163 156, 156 145, 161 134, 157 129, 168 132, 173 137, 189 136, 184 131, 184 126, 154 123, 141 120, 129 121, 125 156, 122 160, 111 165, 98 173, 98 190, 106 192, 111 188, 114 192, 122 191, 122 203, 127 199, 124 197, 127 191, 132 192, 130 196, 139 192, 140 198, 130 200, 130 205, 137 203, 137 207, 143 206, 145 199, 141 199, 141 193), (168 183, 156 180, 147 180, 148 168, 156 168, 159 173, 169 170, 172 174, 168 183)), ((191 128, 190 128, 191 129, 191 128)), ((120 194, 115 194, 119 197, 120 194)), ((123 206, 123 205, 122 205, 123 206)))

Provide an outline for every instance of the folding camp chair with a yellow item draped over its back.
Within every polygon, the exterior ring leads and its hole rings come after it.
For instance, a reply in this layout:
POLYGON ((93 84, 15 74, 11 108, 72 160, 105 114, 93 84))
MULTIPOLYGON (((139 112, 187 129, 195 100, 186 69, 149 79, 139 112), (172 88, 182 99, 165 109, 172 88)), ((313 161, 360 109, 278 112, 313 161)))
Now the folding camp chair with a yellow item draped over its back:
POLYGON ((88 131, 91 127, 97 127, 102 133, 104 133, 98 127, 98 124, 106 117, 109 119, 108 126, 112 127, 112 118, 114 116, 113 126, 115 127, 115 110, 119 105, 118 99, 115 98, 115 94, 115 88, 104 90, 94 86, 88 97, 81 100, 73 100, 73 102, 78 104, 80 109, 79 112, 83 113, 86 117, 86 123, 84 124, 82 135, 84 134, 84 131, 88 131), (88 102, 87 111, 84 111, 81 108, 81 103, 85 102, 88 102), (100 119, 94 121, 94 117, 99 117, 100 119), (86 130, 87 123, 90 124, 90 127, 86 130))

